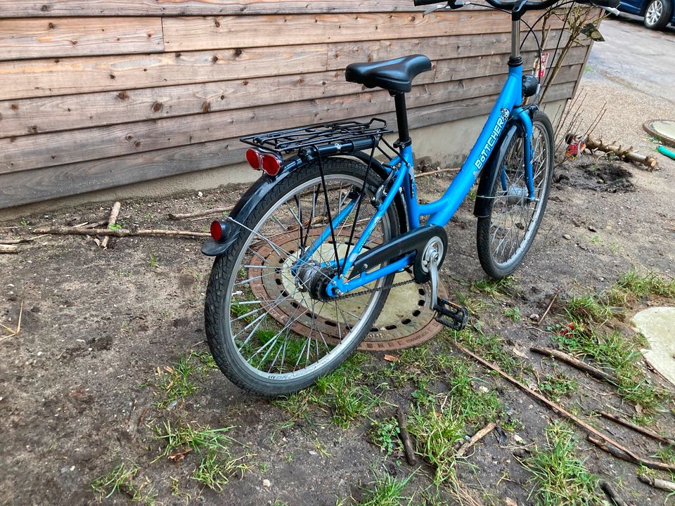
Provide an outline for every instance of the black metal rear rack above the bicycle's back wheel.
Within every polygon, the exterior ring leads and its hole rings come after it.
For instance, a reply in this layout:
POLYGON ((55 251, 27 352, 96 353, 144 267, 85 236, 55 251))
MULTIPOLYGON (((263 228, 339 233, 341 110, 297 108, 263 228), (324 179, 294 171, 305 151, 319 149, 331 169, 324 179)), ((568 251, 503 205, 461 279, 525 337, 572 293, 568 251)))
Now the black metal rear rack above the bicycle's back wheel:
POLYGON ((373 139, 377 145, 385 134, 392 134, 392 130, 387 129, 387 122, 384 119, 373 118, 368 123, 345 121, 269 131, 242 137, 240 141, 283 155, 302 148, 319 148, 336 144, 339 146, 340 143, 356 139, 373 139))

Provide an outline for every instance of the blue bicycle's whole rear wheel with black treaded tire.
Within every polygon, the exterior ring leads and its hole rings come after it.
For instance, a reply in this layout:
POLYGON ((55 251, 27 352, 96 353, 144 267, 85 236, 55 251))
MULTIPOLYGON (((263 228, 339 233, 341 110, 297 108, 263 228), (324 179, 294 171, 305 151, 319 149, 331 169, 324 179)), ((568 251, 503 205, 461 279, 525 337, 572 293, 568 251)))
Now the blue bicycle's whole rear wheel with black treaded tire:
MULTIPOLYGON (((323 173, 328 203, 331 206, 336 203, 339 208, 344 205, 341 195, 349 194, 351 188, 361 190, 366 167, 352 159, 329 158, 323 161, 323 173)), ((382 183, 380 176, 369 171, 366 196, 359 216, 354 216, 356 210, 352 209, 347 221, 343 222, 345 226, 334 231, 337 245, 333 245, 331 235, 328 235, 312 259, 316 257, 316 261, 326 264, 326 261, 334 259, 335 249, 340 257, 346 253, 351 230, 347 226, 351 223, 349 220, 356 219, 357 223, 361 223, 374 214, 370 197, 382 183)), ((301 250, 303 240, 307 247, 310 234, 311 239, 318 242, 316 237, 321 234, 313 229, 323 231, 326 224, 307 229, 296 224, 296 230, 292 232, 288 232, 288 228, 295 223, 311 225, 321 213, 321 220, 325 221, 328 214, 325 202, 319 165, 310 164, 295 171, 270 190, 243 223, 246 233, 214 261, 205 301, 207 342, 224 375, 238 387, 254 394, 291 394, 309 387, 317 378, 333 371, 359 346, 389 294, 389 289, 385 288, 339 302, 333 299, 322 303, 312 299, 309 292, 300 291, 297 275, 292 271, 293 263, 299 262, 298 257, 302 258, 297 251, 301 250), (313 211, 307 211, 305 202, 310 202, 313 211), (304 214, 305 211, 309 214, 304 214), (301 230, 306 232, 304 239, 301 230), (281 231, 281 235, 277 231, 281 231), (298 249, 293 251, 291 246, 298 249), (259 295, 260 285, 264 285, 263 297, 259 295), (278 299, 273 299, 277 293, 278 299), (333 309, 335 318, 331 320, 333 309), (288 316, 285 323, 284 315, 288 316), (330 325, 334 330, 329 328, 330 325), (304 335, 307 328, 310 329, 309 335, 304 335), (274 336, 271 335, 273 332, 274 336), (331 337, 329 332, 337 334, 338 339, 331 337), (274 361, 270 362, 273 355, 274 361)), ((331 209, 333 219, 337 213, 337 209, 331 209)), ((359 227, 365 224, 356 227, 352 243, 356 242, 359 227)), ((373 231, 367 246, 390 240, 398 233, 397 209, 392 204, 373 231)), ((319 268, 309 262, 302 265, 311 273, 312 279, 321 281, 319 268)), ((393 278, 394 274, 387 275, 364 288, 387 287, 392 284, 393 278)))

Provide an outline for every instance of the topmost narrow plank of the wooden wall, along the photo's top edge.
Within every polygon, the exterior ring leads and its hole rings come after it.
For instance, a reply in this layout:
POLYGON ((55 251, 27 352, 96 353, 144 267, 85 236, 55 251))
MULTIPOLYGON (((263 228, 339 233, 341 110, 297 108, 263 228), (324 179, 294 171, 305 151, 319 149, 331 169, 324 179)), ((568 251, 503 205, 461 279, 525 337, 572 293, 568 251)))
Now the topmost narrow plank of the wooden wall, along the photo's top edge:
POLYGON ((3 18, 422 11, 412 0, 0 0, 3 18))

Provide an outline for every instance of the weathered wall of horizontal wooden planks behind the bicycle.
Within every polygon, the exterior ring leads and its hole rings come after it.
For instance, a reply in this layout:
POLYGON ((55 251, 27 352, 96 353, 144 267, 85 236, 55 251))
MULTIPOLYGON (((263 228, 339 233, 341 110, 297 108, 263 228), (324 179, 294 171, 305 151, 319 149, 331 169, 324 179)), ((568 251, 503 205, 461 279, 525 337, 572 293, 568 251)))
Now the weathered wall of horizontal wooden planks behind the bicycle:
MULTIPOLYGON (((234 164, 257 131, 393 119, 386 91, 344 81, 357 61, 433 60, 412 127, 484 115, 509 31, 503 13, 423 18, 412 0, 0 0, 0 208, 234 164)), ((535 50, 529 37, 527 65, 535 50)), ((548 100, 572 96, 588 51, 548 100)))

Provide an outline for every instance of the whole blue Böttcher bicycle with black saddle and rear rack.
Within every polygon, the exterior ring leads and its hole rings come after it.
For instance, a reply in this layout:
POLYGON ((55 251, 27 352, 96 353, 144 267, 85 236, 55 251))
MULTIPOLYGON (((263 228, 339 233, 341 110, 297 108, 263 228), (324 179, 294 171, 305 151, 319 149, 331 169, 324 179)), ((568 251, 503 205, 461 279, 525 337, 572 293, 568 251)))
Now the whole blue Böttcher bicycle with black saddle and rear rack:
MULTIPOLYGON (((431 70, 426 56, 347 67, 347 81, 393 96, 393 144, 385 140, 392 131, 377 118, 242 139, 252 146, 249 164, 264 174, 228 218, 212 223, 212 240, 202 249, 216 257, 205 302, 207 341, 239 387, 268 396, 308 387, 359 346, 400 284, 429 283, 439 321, 463 328, 466 309, 437 296, 438 269, 448 251, 444 226, 479 178, 475 215, 484 271, 503 278, 525 257, 546 209, 554 144, 536 100, 525 105, 539 82, 522 74, 520 20, 558 0, 487 1, 513 21, 508 77, 439 200, 418 202, 406 115, 413 79, 431 70)), ((463 5, 454 0, 440 8, 463 5)))

